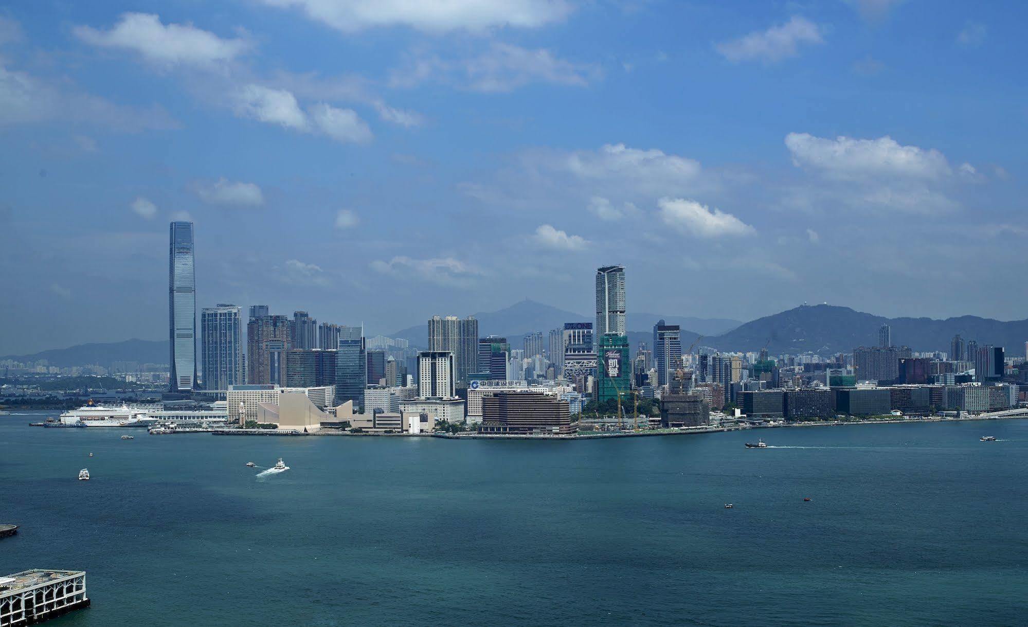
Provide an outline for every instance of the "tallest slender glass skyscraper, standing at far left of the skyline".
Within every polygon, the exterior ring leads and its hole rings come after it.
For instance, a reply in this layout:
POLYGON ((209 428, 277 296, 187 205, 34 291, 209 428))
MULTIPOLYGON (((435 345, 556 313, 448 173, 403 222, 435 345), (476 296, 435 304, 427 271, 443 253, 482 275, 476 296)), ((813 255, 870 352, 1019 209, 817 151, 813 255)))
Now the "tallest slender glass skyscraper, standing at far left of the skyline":
POLYGON ((192 222, 172 222, 168 255, 172 391, 196 386, 196 274, 192 222))

